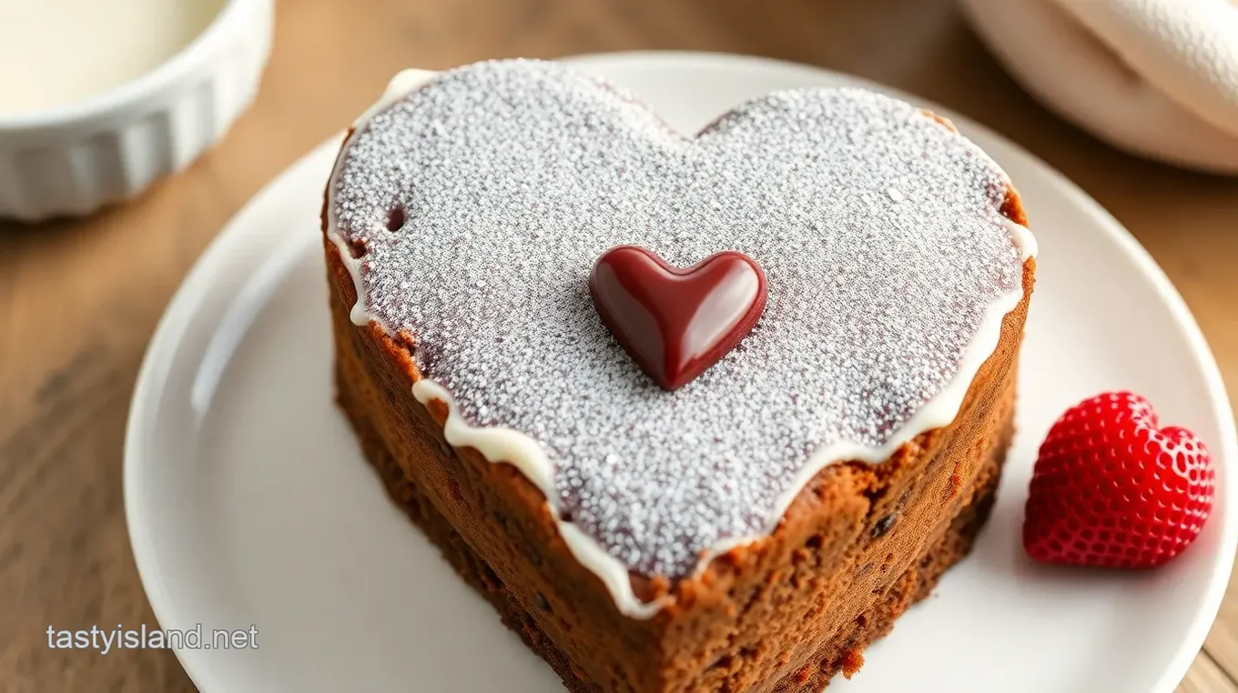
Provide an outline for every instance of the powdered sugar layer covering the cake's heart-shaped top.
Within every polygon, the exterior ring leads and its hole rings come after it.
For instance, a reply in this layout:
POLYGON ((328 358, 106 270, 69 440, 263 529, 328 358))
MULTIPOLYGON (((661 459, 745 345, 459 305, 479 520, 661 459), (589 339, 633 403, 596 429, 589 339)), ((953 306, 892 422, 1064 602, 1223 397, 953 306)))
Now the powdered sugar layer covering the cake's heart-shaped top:
POLYGON ((536 441, 565 520, 677 578, 769 531, 822 450, 886 447, 966 370, 990 308, 1023 292, 1008 187, 974 145, 874 93, 773 94, 693 139, 592 77, 504 61, 361 125, 333 233, 363 252, 365 313, 416 338, 461 416, 536 441), (621 244, 680 266, 748 254, 761 321, 660 390, 589 299, 593 261, 621 244))

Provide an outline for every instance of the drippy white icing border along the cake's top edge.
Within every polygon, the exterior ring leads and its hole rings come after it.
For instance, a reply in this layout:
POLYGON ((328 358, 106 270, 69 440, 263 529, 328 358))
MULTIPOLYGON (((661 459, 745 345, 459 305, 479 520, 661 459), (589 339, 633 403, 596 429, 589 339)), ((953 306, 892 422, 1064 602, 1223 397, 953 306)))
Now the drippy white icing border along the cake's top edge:
MULTIPOLYGON (((438 74, 439 73, 437 72, 423 69, 406 69, 396 74, 391 79, 390 84, 387 84, 383 97, 379 98, 374 105, 366 109, 365 113, 353 123, 354 135, 365 126, 374 114, 383 110, 391 103, 411 94, 416 89, 420 89, 438 74)), ((340 147, 342 153, 347 151, 350 141, 352 136, 343 142, 340 147)), ((988 158, 988 155, 979 150, 979 147, 976 147, 976 151, 978 155, 988 158)), ((331 178, 327 183, 327 238, 334 243, 335 248, 339 250, 339 257, 344 262, 344 266, 348 267, 349 273, 353 276, 353 285, 357 288, 358 298, 349 312, 350 319, 357 325, 365 325, 369 324, 370 321, 374 321, 378 322, 380 327, 386 329, 386 325, 383 325, 381 321, 366 313, 364 301, 361 301, 361 261, 353 257, 348 245, 335 230, 335 212, 331 198, 334 194, 335 182, 343 161, 343 156, 339 156, 335 160, 335 166, 332 170, 331 178)), ((999 168, 995 163, 994 167, 999 168)), ((1021 224, 1015 224, 1010 220, 1005 220, 1005 226, 1010 231, 1015 245, 1019 246, 1021 259, 1026 262, 1028 259, 1035 257, 1037 245, 1031 231, 1021 224)), ((697 569, 693 572, 693 577, 699 575, 716 556, 723 554, 734 547, 756 541, 764 536, 769 536, 769 533, 777 527, 779 522, 781 522, 786 509, 791 505, 795 497, 800 495, 803 486, 807 485, 807 483, 828 464, 843 459, 854 459, 870 464, 885 462, 900 447, 916 436, 920 436, 926 431, 932 431, 933 428, 948 426, 954 420, 954 416, 958 415, 958 408, 963 403, 963 397, 967 395, 967 390, 976 379, 976 374, 979 371, 980 365, 984 364, 989 355, 993 354, 993 350, 997 349, 998 342, 1002 337, 1002 319, 1006 316, 1006 313, 1014 311, 1019 306, 1019 302, 1023 301, 1023 295, 1024 287, 1020 283, 1019 291, 1011 292, 1010 295, 1004 296, 989 304, 985 311, 984 321, 980 323, 980 327, 977 330, 976 337, 972 339, 971 345, 968 345, 967 351, 963 353, 963 358, 959 361, 958 371, 954 374, 954 377, 946 384, 941 391, 933 395, 933 397, 930 398, 924 407, 920 408, 920 411, 912 415, 912 417, 907 420, 907 422, 904 423, 894 436, 890 437, 885 446, 881 446, 880 448, 870 448, 857 443, 836 443, 815 452, 808 459, 808 463, 796 476, 795 483, 779 497, 776 512, 771 514, 773 520, 770 521, 770 526, 759 535, 732 538, 704 552, 704 556, 697 564, 697 569)), ((448 413, 447 422, 443 426, 443 433, 449 444, 457 448, 474 448, 491 463, 503 462, 511 464, 539 490, 541 490, 542 495, 546 496, 546 504, 550 506, 551 512, 555 516, 560 537, 562 537, 563 542, 572 552, 572 556, 576 557, 581 566, 593 572, 602 579, 602 582, 607 585, 607 589, 610 592, 610 596, 614 599, 615 606, 620 613, 633 619, 649 619, 661 611, 662 606, 672 600, 670 595, 666 595, 650 603, 641 601, 631 589, 628 567, 624 566, 618 558, 610 556, 600 543, 581 531, 581 528, 574 523, 565 522, 558 519, 558 491, 555 486, 555 465, 551 463, 550 458, 546 457, 546 452, 542 449, 541 444, 537 443, 537 441, 511 428, 470 426, 459 413, 456 400, 452 398, 451 394, 442 385, 428 379, 421 379, 415 382, 412 386, 412 395, 422 405, 428 405, 432 400, 438 400, 447 405, 448 413)))

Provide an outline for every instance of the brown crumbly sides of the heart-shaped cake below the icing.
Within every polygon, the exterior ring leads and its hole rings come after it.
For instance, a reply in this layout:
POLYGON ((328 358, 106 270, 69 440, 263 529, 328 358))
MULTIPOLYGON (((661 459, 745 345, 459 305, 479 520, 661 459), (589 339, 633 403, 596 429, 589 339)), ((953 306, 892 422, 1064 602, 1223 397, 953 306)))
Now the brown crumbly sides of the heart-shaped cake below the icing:
POLYGON ((446 406, 412 396, 418 374, 410 340, 350 322, 352 277, 334 244, 324 251, 339 397, 366 455, 389 470, 389 488, 395 464, 401 488, 416 489, 397 500, 420 525, 452 527, 454 535, 427 533, 572 691, 811 691, 855 665, 983 522, 972 509, 990 502, 1009 443, 1032 260, 1024 298, 1004 318, 998 349, 953 423, 919 436, 886 463, 822 469, 771 535, 717 557, 696 578, 634 575, 638 594, 672 598, 639 620, 579 564, 545 495, 520 471, 446 442, 446 406), (969 512, 976 517, 967 520, 969 512), (967 532, 952 528, 959 517, 967 532))

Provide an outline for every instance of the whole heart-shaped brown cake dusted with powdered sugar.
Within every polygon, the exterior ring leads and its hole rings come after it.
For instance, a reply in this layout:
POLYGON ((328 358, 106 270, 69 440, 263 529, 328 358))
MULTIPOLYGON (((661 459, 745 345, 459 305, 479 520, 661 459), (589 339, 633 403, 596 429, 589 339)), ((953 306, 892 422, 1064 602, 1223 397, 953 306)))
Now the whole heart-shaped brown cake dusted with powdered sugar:
MULTIPOLYGON (((328 187, 340 400, 397 500, 571 662, 569 688, 744 691, 813 658, 820 688, 983 523, 1031 288, 1023 222, 948 123, 862 89, 681 134, 557 63, 410 72, 328 187), (610 319, 633 293, 591 295, 617 246, 664 269, 743 254, 764 309, 717 299, 743 334, 656 375, 610 319), (779 629, 801 641, 789 660, 779 629)), ((706 302, 655 288, 638 308, 676 324, 706 302)))

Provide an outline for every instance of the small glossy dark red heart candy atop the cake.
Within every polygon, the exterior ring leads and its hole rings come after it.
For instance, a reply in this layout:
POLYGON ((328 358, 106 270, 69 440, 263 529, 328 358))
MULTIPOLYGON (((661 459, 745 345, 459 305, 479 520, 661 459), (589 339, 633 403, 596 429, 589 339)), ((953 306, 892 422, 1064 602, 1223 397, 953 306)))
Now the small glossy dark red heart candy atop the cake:
POLYGON ((765 309, 765 272, 734 251, 678 269, 652 251, 620 245, 598 257, 589 293, 603 324, 665 390, 718 363, 765 309))

